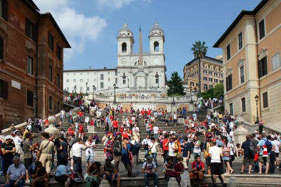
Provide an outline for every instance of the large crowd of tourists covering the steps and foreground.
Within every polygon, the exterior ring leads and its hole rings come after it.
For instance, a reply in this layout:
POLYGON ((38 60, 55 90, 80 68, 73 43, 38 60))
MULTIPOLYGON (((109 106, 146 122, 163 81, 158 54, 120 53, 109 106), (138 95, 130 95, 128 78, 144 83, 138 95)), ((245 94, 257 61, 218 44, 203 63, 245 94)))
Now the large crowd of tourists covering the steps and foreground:
MULTIPOLYGON (((208 100, 207 100, 208 102, 208 100)), ((216 101, 218 102, 218 101, 216 101)), ((216 104, 214 102, 214 104, 216 104)), ((211 103, 210 103, 211 104, 211 103)), ((207 107, 212 108, 207 104, 207 107)), ((105 179, 113 185, 119 186, 119 163, 126 168, 127 176, 134 177, 133 165, 138 165, 144 160, 142 170, 145 186, 148 179, 154 179, 157 186, 157 169, 159 167, 157 154, 163 159, 163 171, 167 181, 175 177, 178 184, 202 185, 206 174, 211 174, 213 183, 216 183, 218 175, 221 183, 226 185, 224 176, 233 174, 233 161, 242 159, 240 173, 247 171, 249 174, 274 172, 279 167, 280 135, 273 132, 264 132, 263 121, 259 124, 256 132, 246 136, 244 142, 234 144, 234 132, 237 127, 237 116, 232 117, 228 111, 208 113, 204 120, 197 120, 197 112, 187 116, 187 109, 177 109, 169 115, 164 109, 137 109, 130 104, 129 110, 123 111, 122 104, 117 108, 106 105, 100 109, 98 104, 92 102, 89 110, 81 108, 77 113, 73 112, 66 116, 65 111, 60 111, 60 120, 66 121, 70 127, 67 131, 60 132, 59 137, 54 134, 41 132, 40 144, 32 144, 34 135, 32 132, 40 132, 30 118, 27 120, 26 132, 22 133, 11 125, 12 135, 5 137, 1 144, 1 169, 6 177, 6 186, 23 186, 32 180, 32 186, 48 186, 51 169, 57 159, 55 180, 70 186, 80 180, 86 180, 86 186, 98 186, 105 179), (102 111, 105 111, 105 116, 102 111), (85 115, 85 113, 89 113, 85 115), (126 116, 118 120, 119 115, 126 116), (85 116, 89 116, 86 120, 85 116), (159 127, 159 123, 178 125, 178 118, 184 118, 185 131, 172 129, 168 131, 159 127), (86 137, 82 120, 88 126, 94 126, 104 130, 103 137, 91 134, 86 137), (141 139, 140 127, 145 126, 146 137, 141 139), (200 141, 199 136, 204 136, 200 141), (84 144, 83 139, 87 138, 84 144), (103 144, 105 163, 95 161, 95 148, 97 144, 103 144), (139 153, 145 151, 145 157, 139 158, 139 153), (82 175, 82 151, 86 151, 86 174, 82 175), (23 155, 24 165, 20 164, 23 155), (193 157, 194 161, 189 162, 193 157), (70 160, 70 164, 68 164, 70 160), (205 161, 205 162, 204 162, 205 161), (34 163, 34 164, 33 164, 34 163), (223 165, 226 172, 223 171, 223 165), (249 169, 246 169, 246 167, 249 169)), ((39 120, 40 126, 48 127, 48 121, 39 120), (45 125, 47 123, 47 125, 45 125)), ((58 123, 59 125, 59 123, 58 123)), ((235 142, 236 143, 236 142, 235 142)), ((0 170, 1 170, 0 169, 0 170)), ((1 172, 1 171, 0 171, 1 172)), ((185 185, 185 186, 186 186, 185 185)))

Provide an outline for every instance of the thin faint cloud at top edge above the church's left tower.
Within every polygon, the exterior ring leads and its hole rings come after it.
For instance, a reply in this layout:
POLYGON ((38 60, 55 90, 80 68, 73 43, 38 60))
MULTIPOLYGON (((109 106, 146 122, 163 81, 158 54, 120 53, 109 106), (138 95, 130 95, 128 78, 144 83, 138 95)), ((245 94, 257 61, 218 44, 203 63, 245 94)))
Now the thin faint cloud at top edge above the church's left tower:
POLYGON ((135 0, 97 0, 97 5, 99 9, 119 9, 130 4, 132 1, 135 0))

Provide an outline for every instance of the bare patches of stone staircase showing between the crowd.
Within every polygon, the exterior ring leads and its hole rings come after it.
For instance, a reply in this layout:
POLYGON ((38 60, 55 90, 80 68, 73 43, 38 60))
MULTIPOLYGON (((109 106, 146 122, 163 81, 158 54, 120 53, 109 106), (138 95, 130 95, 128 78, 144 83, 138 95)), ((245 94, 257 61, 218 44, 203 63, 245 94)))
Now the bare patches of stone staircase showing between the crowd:
MULTIPOLYGON (((187 112, 187 116, 192 116, 193 112, 192 111, 189 111, 187 112)), ((104 111, 102 113, 102 115, 105 115, 104 111)), ((89 116, 89 114, 86 114, 86 116, 89 116)), ((119 121, 119 124, 121 124, 121 120, 123 118, 123 116, 128 116, 128 114, 122 114, 120 116, 118 116, 118 121, 119 121)), ((206 118, 206 111, 201 111, 200 113, 197 113, 197 119, 198 120, 204 120, 206 118)), ((159 127, 159 129, 165 129, 168 131, 168 132, 171 132, 171 130, 180 130, 181 134, 184 134, 185 133, 185 126, 183 124, 180 124, 180 123, 177 123, 176 124, 176 127, 174 126, 174 123, 168 123, 168 126, 166 126, 166 123, 162 123, 159 121, 159 119, 155 119, 156 120, 156 123, 157 123, 157 127, 159 127)), ((67 121, 67 120, 66 120, 67 121)), ((84 118, 82 118, 82 122, 84 121, 84 118)), ((82 124, 83 125, 83 124, 82 124)), ((69 127, 68 123, 67 122, 64 122, 62 124, 61 127, 58 127, 59 130, 67 130, 69 127)), ((85 132, 85 137, 84 137, 84 142, 86 142, 86 140, 88 139, 89 136, 91 136, 91 133, 88 132, 87 130, 87 125, 83 125, 84 127, 84 132, 85 132)), ((147 134, 146 130, 145 130, 145 123, 141 122, 141 119, 140 119, 140 122, 138 124, 138 127, 140 129, 140 137, 141 137, 141 140, 140 141, 143 141, 143 139, 145 139, 145 136, 147 134)), ((105 130, 103 129, 100 129, 100 127, 95 127, 95 131, 96 133, 98 134, 98 137, 99 137, 99 142, 98 144, 96 144, 96 148, 95 148, 95 157, 94 157, 94 160, 96 161, 103 161, 105 160, 105 155, 103 153, 103 145, 101 144, 101 141, 103 139, 103 136, 105 135, 105 130)), ((33 143, 39 143, 39 141, 41 141, 41 135, 40 133, 33 133, 34 134, 34 139, 33 139, 33 143)), ((152 136, 153 136, 153 132, 152 132, 152 136)), ((199 137, 200 141, 203 141, 204 140, 204 136, 200 136, 199 137)), ((145 151, 143 149, 143 145, 140 145, 141 146, 141 149, 140 149, 140 153, 139 153, 139 159, 142 161, 143 158, 145 157, 145 151)), ((85 152, 86 151, 83 151, 83 159, 85 159, 85 152)), ((161 155, 157 154, 157 160, 162 160, 161 158, 161 155)), ((161 162, 161 161, 160 161, 161 162)))

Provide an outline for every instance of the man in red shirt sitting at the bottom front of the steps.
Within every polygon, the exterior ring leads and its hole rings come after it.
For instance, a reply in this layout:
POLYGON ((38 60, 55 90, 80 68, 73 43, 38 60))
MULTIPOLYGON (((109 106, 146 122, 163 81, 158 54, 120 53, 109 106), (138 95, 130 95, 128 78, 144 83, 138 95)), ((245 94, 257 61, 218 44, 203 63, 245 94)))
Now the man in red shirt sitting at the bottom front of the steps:
POLYGON ((205 172, 204 162, 201 161, 200 155, 195 156, 195 160, 191 163, 191 171, 189 173, 191 185, 199 184, 203 181, 205 172), (195 180, 197 180, 195 182, 195 180))

